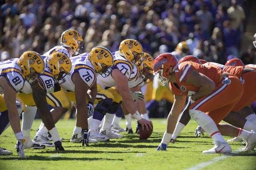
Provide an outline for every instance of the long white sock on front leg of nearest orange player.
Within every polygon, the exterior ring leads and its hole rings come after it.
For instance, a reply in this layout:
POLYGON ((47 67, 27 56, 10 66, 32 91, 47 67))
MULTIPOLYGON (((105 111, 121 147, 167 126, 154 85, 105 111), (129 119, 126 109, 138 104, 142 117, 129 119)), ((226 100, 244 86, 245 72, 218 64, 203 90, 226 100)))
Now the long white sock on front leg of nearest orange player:
POLYGON ((189 110, 191 118, 196 121, 214 141, 226 142, 210 116, 199 110, 189 110))

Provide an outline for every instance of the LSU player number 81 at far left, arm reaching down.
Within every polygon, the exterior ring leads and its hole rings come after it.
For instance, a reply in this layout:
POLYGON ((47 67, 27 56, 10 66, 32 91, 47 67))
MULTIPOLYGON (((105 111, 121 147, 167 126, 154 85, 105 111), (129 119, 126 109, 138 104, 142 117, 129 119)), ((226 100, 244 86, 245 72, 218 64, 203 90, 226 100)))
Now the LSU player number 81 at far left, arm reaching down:
POLYGON ((16 107, 16 94, 38 79, 44 72, 44 61, 42 57, 34 51, 26 51, 19 59, 11 59, 0 62, 0 92, 4 94, 5 103, 8 109, 8 118, 11 128, 18 140, 18 156, 24 155, 25 138, 21 132, 20 119, 16 107))

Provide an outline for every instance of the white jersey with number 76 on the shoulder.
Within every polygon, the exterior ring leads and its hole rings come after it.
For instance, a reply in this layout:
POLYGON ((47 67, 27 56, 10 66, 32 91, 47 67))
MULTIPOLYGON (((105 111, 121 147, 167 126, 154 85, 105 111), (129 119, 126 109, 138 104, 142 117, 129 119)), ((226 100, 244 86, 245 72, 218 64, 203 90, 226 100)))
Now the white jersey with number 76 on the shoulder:
POLYGON ((89 52, 85 52, 70 58, 72 64, 70 75, 64 77, 66 80, 64 83, 59 82, 66 91, 75 91, 75 84, 72 81, 72 75, 74 73, 79 73, 81 79, 83 79, 84 83, 86 83, 89 88, 91 88, 96 81, 96 71, 88 58, 88 54, 89 52))

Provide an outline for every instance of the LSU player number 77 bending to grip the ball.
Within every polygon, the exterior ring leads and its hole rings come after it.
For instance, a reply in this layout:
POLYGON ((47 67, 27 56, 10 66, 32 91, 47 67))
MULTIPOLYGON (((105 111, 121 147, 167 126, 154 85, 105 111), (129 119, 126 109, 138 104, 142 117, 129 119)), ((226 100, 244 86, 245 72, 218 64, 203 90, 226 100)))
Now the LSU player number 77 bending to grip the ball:
MULTIPOLYGON (((135 106, 133 98, 131 97, 130 90, 128 87, 128 81, 131 80, 132 73, 132 64, 133 65, 141 65, 143 55, 143 48, 141 44, 133 39, 126 39, 120 43, 119 50, 113 52, 114 57, 114 66, 112 67, 112 73, 109 77, 97 77, 97 84, 100 85, 102 89, 107 89, 112 94, 112 98, 108 98, 107 96, 102 95, 102 100, 99 103, 102 104, 102 107, 94 110, 93 119, 90 127, 91 138, 121 138, 123 135, 115 133, 111 130, 111 124, 113 121, 113 117, 115 116, 115 112, 120 106, 121 102, 124 102, 126 109, 133 115, 133 117, 139 121, 139 123, 146 129, 152 128, 151 122, 143 119, 138 109, 135 106), (132 64, 131 64, 132 63, 132 64), (113 87, 116 88, 113 88, 113 87), (112 101, 111 101, 112 100, 112 101), (102 129, 100 130, 101 134, 99 134, 99 126, 102 119, 105 119, 103 122, 102 129), (148 127, 149 126, 149 127, 148 127)), ((135 74, 133 78, 137 78, 138 74, 135 74)))

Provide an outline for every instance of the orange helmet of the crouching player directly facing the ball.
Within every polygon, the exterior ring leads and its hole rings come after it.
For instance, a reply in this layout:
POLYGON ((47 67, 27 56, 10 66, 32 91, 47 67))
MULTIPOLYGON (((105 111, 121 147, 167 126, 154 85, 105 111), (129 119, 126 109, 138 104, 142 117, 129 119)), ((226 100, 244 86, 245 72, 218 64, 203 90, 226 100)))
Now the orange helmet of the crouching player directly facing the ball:
POLYGON ((164 86, 169 83, 170 76, 172 76, 172 71, 178 64, 177 58, 171 53, 160 54, 154 60, 153 64, 153 75, 157 77, 159 84, 164 86))

